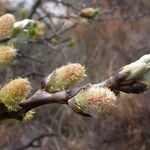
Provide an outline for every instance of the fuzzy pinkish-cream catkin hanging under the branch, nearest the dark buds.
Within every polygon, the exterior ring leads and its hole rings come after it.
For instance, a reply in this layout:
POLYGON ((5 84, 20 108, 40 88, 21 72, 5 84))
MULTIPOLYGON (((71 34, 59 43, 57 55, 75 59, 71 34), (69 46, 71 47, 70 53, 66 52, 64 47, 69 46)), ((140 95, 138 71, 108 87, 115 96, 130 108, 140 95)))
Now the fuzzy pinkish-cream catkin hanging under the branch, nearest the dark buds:
POLYGON ((70 106, 75 106, 73 110, 80 114, 106 113, 110 114, 117 109, 117 96, 106 87, 89 87, 80 91, 75 97, 68 101, 70 106), (72 104, 73 103, 73 104, 72 104), (78 110, 77 110, 78 108, 78 110))

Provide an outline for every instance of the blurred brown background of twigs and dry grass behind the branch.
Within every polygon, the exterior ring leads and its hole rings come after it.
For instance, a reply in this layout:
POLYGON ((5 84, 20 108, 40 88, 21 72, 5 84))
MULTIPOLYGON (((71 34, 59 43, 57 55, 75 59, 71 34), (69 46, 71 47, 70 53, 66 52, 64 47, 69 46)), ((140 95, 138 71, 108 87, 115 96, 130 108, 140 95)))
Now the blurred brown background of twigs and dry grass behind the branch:
MULTIPOLYGON (((0 71, 2 85, 28 77, 34 92, 45 74, 67 62, 85 65, 85 83, 98 83, 150 53, 149 0, 0 0, 0 15, 5 13, 37 20, 44 30, 19 47, 15 62, 0 71), (100 15, 75 21, 72 16, 87 7, 98 8, 100 15)), ((149 97, 150 91, 128 95, 119 113, 97 118, 79 116, 65 105, 42 106, 30 122, 0 125, 0 149, 149 150, 149 97), (58 136, 46 136, 52 132, 58 136)))

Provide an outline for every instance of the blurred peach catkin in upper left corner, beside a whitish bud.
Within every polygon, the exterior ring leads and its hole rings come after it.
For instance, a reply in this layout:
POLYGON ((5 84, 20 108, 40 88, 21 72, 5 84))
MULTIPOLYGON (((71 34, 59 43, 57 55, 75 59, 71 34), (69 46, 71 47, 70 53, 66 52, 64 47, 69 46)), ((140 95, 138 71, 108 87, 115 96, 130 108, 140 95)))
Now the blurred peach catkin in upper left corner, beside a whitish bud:
POLYGON ((5 14, 0 17, 0 37, 7 38, 12 35, 15 17, 11 14, 5 14))

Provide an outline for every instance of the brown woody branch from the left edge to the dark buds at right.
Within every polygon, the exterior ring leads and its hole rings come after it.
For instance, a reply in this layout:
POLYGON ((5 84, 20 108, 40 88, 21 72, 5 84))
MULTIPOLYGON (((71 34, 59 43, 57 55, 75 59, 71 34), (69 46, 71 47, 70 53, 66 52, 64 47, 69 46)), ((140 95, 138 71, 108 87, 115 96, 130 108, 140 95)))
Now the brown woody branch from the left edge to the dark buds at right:
POLYGON ((110 90, 119 94, 120 91, 125 93, 134 93, 139 94, 147 90, 145 84, 139 81, 127 81, 126 77, 128 73, 120 74, 118 73, 115 76, 105 80, 104 82, 98 84, 87 84, 82 87, 75 87, 67 91, 60 91, 55 93, 48 93, 43 89, 39 89, 32 95, 30 98, 19 104, 20 109, 17 111, 9 111, 4 104, 0 104, 0 120, 3 119, 17 119, 22 121, 26 113, 34 108, 37 108, 42 105, 59 103, 59 104, 68 104, 68 100, 74 97, 79 91, 85 89, 89 86, 93 87, 108 87, 110 90))

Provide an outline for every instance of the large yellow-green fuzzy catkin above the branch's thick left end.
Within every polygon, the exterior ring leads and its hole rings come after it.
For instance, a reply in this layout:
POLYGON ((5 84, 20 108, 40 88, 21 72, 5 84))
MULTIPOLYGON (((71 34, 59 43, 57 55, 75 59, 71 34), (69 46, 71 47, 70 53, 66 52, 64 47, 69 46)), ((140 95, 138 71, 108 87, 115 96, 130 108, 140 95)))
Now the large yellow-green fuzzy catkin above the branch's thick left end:
POLYGON ((26 99, 31 90, 27 78, 18 78, 10 81, 0 90, 0 101, 9 109, 16 111, 18 104, 26 99))

